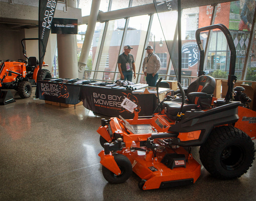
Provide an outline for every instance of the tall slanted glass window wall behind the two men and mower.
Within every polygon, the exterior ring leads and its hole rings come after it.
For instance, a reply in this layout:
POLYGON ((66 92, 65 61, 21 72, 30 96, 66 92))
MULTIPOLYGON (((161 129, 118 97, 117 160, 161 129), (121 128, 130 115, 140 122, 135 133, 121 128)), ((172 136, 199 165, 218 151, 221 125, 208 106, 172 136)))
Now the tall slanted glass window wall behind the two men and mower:
MULTIPOLYGON (((81 1, 82 2, 82 1, 81 1)), ((101 2, 101 10, 108 10, 108 2, 101 2), (103 6, 104 3, 104 6, 103 6), (104 7, 104 8, 103 8, 104 7), (103 8, 103 9, 102 9, 103 8)), ((143 4, 152 3, 152 1, 133 1, 132 6, 139 6, 143 4)), ((111 10, 127 8, 129 5, 129 0, 118 1, 113 0, 111 10)), ((250 31, 248 28, 250 27, 242 27, 242 14, 243 8, 245 5, 245 1, 235 1, 235 2, 226 2, 217 4, 216 6, 216 17, 215 24, 222 23, 226 27, 229 28, 234 44, 236 46, 236 69, 235 74, 238 79, 242 79, 242 73, 245 70, 245 79, 256 79, 255 67, 256 60, 254 55, 254 49, 256 49, 255 37, 252 37, 251 49, 248 53, 248 61, 247 65, 244 68, 244 62, 246 60, 246 53, 249 43, 250 31), (247 73, 249 72, 249 74, 247 73), (254 74, 253 74, 254 73, 254 74)), ((195 31, 204 26, 210 25, 210 20, 213 12, 213 6, 200 6, 195 8, 188 8, 182 10, 182 85, 187 87, 190 82, 195 80, 196 78, 186 78, 186 76, 198 76, 199 69, 199 50, 195 40, 195 31)), ((89 14, 87 14, 89 15, 89 14)), ((162 33, 161 26, 159 24, 159 20, 157 14, 153 16, 153 22, 151 25, 151 30, 149 30, 149 40, 146 41, 146 33, 149 25, 149 15, 145 16, 135 16, 129 18, 128 30, 125 34, 125 42, 124 45, 131 45, 133 49, 131 50, 131 54, 134 55, 136 71, 138 73, 142 72, 142 63, 143 59, 146 56, 146 51, 144 50, 144 46, 152 45, 154 47, 155 53, 161 59, 162 66, 160 68, 159 74, 162 75, 172 75, 172 76, 162 76, 164 79, 176 80, 174 76, 174 70, 172 66, 172 62, 170 61, 169 53, 166 47, 165 39, 162 33), (162 46, 160 46, 160 42, 163 42, 162 46)), ((109 25, 106 32, 106 38, 104 41, 104 46, 102 50, 102 55, 99 58, 99 70, 104 70, 106 73, 103 74, 98 73, 97 79, 115 81, 116 79, 120 79, 120 74, 118 73, 117 78, 114 78, 113 73, 108 73, 110 71, 115 71, 120 45, 122 44, 122 34, 124 30, 126 19, 117 19, 109 21, 109 25), (115 79, 115 80, 114 80, 115 79)), ((248 19, 250 20, 250 19, 248 19)), ((99 53, 99 46, 101 43, 101 38, 103 34, 105 23, 97 22, 93 42, 92 42, 92 69, 96 69, 96 62, 99 53)), ((173 27, 175 28, 175 27, 173 27)), ((82 35, 82 34, 81 34, 82 35)), ((207 40, 207 32, 203 32, 200 35, 202 45, 206 46, 207 40)), ((81 39, 82 40, 82 39, 81 39)), ((229 60, 230 60, 230 51, 223 33, 219 30, 213 30, 210 41, 208 42, 208 52, 206 55, 205 62, 205 72, 206 74, 216 76, 215 72, 221 72, 222 77, 227 78, 228 70, 229 70, 229 60), (215 73, 215 74, 214 74, 215 73)), ((121 48, 123 52, 123 47, 121 48)), ((121 53, 122 53, 121 52, 121 53)), ((118 69, 116 70, 118 71, 118 69)), ((91 74, 91 73, 90 73, 91 74)), ((138 75, 137 75, 138 76, 138 75)), ((87 78, 92 78, 92 76, 86 75, 87 78)), ((219 78, 219 77, 216 77, 219 78)), ((136 81, 136 80, 133 80, 136 81)), ((145 76, 142 74, 140 79, 137 82, 145 83, 145 76)))

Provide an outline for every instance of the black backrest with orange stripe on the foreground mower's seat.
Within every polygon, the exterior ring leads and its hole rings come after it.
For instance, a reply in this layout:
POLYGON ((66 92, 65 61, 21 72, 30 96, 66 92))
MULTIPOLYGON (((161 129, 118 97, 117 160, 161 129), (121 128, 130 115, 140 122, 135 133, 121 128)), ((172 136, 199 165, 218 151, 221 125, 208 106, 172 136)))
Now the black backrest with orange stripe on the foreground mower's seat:
POLYGON ((213 94, 216 86, 216 81, 209 75, 201 75, 194 82, 192 82, 187 89, 187 99, 190 104, 200 105, 201 108, 209 109, 211 106, 212 97, 200 98, 197 96, 190 96, 190 92, 203 92, 207 94, 213 94))

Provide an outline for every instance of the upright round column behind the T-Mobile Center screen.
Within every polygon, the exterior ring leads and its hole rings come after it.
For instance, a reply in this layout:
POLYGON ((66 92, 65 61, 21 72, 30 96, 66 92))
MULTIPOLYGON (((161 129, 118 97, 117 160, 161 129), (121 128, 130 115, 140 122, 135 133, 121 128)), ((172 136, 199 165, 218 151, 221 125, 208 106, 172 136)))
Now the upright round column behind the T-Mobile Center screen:
MULTIPOLYGON (((67 5, 76 8, 76 0, 68 0, 67 5)), ((59 77, 78 78, 77 36, 75 34, 57 34, 57 46, 59 77)))

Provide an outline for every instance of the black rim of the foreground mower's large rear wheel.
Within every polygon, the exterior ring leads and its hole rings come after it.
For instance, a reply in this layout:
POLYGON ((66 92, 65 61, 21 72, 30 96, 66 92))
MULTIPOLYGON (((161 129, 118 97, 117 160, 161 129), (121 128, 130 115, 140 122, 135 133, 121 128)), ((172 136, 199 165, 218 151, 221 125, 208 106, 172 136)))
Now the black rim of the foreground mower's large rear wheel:
POLYGON ((245 151, 244 149, 238 145, 230 145, 227 146, 221 153, 220 161, 221 165, 226 170, 235 170, 241 167, 244 162, 245 151))

